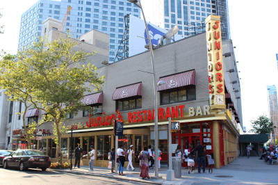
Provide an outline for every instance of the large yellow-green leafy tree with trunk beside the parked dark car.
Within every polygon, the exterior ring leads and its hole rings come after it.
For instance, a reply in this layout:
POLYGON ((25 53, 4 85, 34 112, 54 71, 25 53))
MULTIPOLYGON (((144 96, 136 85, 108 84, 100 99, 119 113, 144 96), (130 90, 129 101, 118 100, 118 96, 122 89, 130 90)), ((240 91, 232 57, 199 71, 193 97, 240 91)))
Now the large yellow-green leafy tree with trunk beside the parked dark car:
POLYGON ((85 93, 99 90, 104 83, 97 67, 88 62, 92 54, 77 50, 77 45, 69 36, 53 42, 40 40, 19 52, 16 58, 18 70, 28 69, 25 74, 19 72, 24 79, 22 86, 30 95, 28 102, 46 112, 40 123, 53 122, 59 162, 62 161, 61 136, 65 132, 63 121, 69 113, 84 108, 81 99, 85 93))

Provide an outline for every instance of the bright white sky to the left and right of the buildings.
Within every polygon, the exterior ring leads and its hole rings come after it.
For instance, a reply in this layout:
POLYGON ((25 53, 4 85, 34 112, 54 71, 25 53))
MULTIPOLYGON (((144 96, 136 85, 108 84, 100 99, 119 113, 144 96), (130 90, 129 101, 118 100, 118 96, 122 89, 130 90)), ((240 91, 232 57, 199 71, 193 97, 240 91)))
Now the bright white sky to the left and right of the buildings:
MULTIPOLYGON (((0 50, 16 54, 22 13, 38 0, 0 0, 0 50)), ((231 39, 241 87, 243 125, 251 129, 251 121, 268 115, 266 87, 278 87, 275 54, 278 53, 278 1, 229 0, 231 39)))

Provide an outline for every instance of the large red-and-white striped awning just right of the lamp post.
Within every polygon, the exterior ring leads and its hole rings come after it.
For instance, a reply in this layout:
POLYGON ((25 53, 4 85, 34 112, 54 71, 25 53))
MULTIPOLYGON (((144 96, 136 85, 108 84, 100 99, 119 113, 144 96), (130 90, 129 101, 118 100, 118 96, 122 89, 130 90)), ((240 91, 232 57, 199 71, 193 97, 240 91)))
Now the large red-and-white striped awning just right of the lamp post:
POLYGON ((158 86, 158 91, 195 85, 195 70, 163 77, 159 81, 165 81, 165 84, 158 86))

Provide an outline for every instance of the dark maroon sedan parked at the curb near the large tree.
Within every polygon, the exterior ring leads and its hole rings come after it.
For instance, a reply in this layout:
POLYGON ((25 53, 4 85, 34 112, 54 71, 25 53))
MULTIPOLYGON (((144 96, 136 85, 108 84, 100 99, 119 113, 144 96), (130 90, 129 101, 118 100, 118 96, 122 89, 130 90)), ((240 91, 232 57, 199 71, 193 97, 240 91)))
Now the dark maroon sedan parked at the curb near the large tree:
POLYGON ((3 168, 15 167, 21 171, 28 168, 41 168, 44 171, 50 164, 50 157, 39 150, 17 150, 3 159, 3 168))

